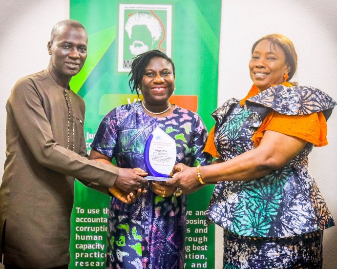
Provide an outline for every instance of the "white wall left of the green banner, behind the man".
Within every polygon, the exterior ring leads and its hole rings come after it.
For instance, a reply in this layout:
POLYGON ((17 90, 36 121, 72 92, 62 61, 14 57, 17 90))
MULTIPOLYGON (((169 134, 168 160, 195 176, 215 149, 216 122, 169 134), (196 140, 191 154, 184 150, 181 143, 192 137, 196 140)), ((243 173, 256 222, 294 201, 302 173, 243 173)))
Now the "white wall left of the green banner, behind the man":
POLYGON ((47 67, 50 31, 68 18, 69 0, 0 0, 0 175, 10 91, 19 78, 47 67))

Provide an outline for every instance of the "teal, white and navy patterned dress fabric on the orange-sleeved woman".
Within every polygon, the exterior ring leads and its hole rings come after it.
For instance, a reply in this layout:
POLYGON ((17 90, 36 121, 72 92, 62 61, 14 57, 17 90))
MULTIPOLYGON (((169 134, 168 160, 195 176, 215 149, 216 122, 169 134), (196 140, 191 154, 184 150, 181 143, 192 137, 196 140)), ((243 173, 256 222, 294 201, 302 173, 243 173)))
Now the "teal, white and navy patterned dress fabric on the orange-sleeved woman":
MULTIPOLYGON (((212 113, 214 143, 228 161, 254 148, 253 134, 270 111, 322 111, 327 120, 335 105, 324 92, 302 86, 273 86, 244 106, 230 99, 212 113)), ((322 230, 335 223, 308 173, 312 149, 307 143, 286 166, 262 178, 215 186, 206 214, 225 229, 224 268, 320 268, 322 230)))

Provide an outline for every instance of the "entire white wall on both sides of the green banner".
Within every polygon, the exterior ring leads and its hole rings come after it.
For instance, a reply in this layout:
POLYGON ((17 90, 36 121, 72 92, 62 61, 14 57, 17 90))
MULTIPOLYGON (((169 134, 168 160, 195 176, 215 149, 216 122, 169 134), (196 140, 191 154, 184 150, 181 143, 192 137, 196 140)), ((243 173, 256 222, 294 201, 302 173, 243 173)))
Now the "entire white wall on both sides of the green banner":
MULTIPOLYGON (((1 169, 5 160, 4 107, 10 89, 18 78, 47 66, 50 30, 68 17, 68 0, 0 0, 1 169)), ((295 80, 321 88, 337 100, 336 17, 335 0, 223 0, 218 104, 230 97, 245 96, 252 84, 248 72, 251 46, 270 33, 282 33, 294 42, 298 54, 295 80)), ((337 220, 336 111, 328 127, 330 144, 314 149, 310 170, 337 220)), ((222 231, 217 232, 216 238, 222 238, 222 231)), ((324 269, 336 268, 336 241, 337 228, 324 232, 324 269)), ((221 242, 216 247, 216 269, 220 269, 221 242)))

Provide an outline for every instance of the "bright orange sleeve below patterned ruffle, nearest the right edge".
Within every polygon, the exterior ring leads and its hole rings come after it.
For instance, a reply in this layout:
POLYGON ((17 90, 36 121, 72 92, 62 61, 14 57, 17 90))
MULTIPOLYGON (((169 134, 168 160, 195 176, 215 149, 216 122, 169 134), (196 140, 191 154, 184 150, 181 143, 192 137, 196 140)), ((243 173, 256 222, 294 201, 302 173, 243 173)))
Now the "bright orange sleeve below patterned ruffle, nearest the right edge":
POLYGON ((315 146, 327 145, 327 125, 322 112, 289 116, 270 112, 252 137, 255 146, 260 144, 266 130, 295 136, 315 146))

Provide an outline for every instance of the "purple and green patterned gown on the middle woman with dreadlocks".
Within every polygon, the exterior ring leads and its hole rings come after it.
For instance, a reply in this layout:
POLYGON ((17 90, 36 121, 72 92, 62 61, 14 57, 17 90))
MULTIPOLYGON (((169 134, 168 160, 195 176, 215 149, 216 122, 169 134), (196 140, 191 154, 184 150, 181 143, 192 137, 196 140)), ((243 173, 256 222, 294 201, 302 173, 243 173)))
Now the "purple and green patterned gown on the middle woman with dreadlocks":
MULTIPOLYGON (((176 141, 177 163, 196 166, 210 161, 203 153, 205 125, 197 114, 178 106, 166 118, 148 116, 140 102, 116 107, 103 119, 91 147, 115 158, 119 167, 146 170, 145 143, 157 126, 176 141)), ((186 195, 163 198, 149 189, 133 205, 112 197, 108 231, 106 268, 183 268, 186 195)))

